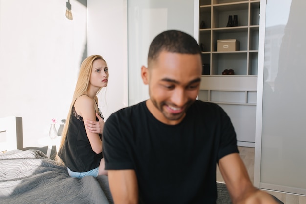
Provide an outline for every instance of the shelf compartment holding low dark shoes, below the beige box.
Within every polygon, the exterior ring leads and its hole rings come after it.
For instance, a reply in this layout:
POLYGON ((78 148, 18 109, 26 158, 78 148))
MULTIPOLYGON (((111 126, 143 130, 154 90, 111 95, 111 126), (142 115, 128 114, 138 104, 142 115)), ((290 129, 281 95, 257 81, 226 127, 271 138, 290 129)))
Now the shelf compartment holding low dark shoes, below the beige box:
POLYGON ((212 75, 222 75, 225 69, 233 69, 235 75, 247 75, 247 52, 214 52, 212 58, 212 75))

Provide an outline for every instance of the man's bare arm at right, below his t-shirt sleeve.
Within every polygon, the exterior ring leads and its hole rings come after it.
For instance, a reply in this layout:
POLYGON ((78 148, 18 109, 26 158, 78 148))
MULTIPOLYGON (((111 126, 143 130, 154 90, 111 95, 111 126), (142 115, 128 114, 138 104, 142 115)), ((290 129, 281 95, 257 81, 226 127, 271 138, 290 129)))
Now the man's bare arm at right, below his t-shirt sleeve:
POLYGON ((218 165, 233 204, 278 204, 270 194, 253 186, 238 153, 222 157, 218 165))

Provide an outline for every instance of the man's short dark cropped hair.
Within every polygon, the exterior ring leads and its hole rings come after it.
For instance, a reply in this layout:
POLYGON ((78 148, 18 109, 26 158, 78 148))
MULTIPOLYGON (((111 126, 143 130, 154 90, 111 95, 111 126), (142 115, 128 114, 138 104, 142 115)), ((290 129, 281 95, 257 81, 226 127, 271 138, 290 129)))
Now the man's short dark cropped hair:
POLYGON ((201 53, 197 41, 191 35, 178 30, 164 31, 153 39, 149 48, 148 64, 156 60, 161 51, 179 54, 201 53))

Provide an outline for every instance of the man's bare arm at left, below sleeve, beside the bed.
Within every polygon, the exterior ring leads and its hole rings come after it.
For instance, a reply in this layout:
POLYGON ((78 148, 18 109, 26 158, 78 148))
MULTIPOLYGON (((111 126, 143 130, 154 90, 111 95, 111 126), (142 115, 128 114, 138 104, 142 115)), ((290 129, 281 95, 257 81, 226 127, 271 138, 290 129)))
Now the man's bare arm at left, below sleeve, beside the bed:
POLYGON ((115 204, 138 204, 138 184, 134 170, 108 170, 108 180, 115 204))

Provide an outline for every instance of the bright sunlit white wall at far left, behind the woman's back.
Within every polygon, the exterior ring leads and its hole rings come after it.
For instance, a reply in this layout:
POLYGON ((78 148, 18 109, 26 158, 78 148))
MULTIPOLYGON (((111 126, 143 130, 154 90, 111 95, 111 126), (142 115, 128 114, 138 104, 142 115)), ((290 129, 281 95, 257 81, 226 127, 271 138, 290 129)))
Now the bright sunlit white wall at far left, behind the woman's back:
POLYGON ((67 117, 87 52, 86 6, 70 3, 72 21, 65 0, 0 0, 0 117, 23 118, 24 147, 67 117))

